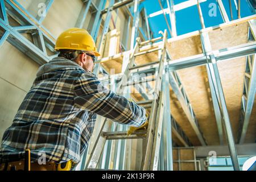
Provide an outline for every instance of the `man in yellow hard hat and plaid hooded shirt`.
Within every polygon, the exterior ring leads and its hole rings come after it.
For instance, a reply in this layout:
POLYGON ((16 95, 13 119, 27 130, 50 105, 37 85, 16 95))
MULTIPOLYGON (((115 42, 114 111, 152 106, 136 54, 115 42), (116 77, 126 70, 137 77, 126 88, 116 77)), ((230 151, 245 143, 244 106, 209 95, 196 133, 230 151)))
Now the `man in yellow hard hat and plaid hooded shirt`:
POLYGON ((96 114, 134 127, 147 119, 143 107, 106 89, 92 73, 100 53, 86 30, 64 31, 55 49, 59 56, 39 68, 3 134, 0 170, 73 170, 88 146, 96 114))

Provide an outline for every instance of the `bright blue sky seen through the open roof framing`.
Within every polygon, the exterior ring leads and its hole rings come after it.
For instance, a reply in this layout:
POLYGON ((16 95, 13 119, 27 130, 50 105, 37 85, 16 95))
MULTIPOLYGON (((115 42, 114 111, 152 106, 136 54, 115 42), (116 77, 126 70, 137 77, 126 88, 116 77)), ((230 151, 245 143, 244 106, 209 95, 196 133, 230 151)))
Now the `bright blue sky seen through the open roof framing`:
MULTIPOLYGON (((174 4, 177 5, 185 1, 189 1, 189 0, 174 0, 174 4)), ((222 0, 222 2, 229 16, 229 19, 231 20, 229 0, 222 0)), ((204 23, 206 27, 211 27, 211 26, 215 26, 217 24, 223 23, 220 10, 218 8, 217 8, 217 16, 210 17, 208 15, 208 12, 210 10, 209 8, 210 3, 216 3, 217 5, 216 0, 207 0, 206 2, 200 3, 201 10, 204 17, 204 23)), ((162 0, 162 5, 164 9, 167 8, 166 0, 162 0)), ((141 3, 140 6, 146 7, 147 15, 161 10, 158 0, 145 0, 144 2, 141 3)), ((233 10, 233 19, 237 19, 237 10, 234 4, 234 0, 232 0, 232 10, 233 10)), ((187 9, 176 11, 175 15, 176 15, 177 35, 183 35, 183 34, 187 34, 188 32, 201 29, 199 13, 196 5, 188 7, 187 9)), ((253 15, 253 13, 249 9, 247 2, 245 0, 242 0, 241 1, 241 17, 250 16, 250 15, 253 15)), ((166 16, 168 19, 168 23, 170 24, 170 16, 168 14, 166 14, 166 16)), ((148 20, 150 23, 151 30, 154 32, 154 38, 159 36, 158 32, 160 30, 164 31, 164 29, 167 29, 167 32, 168 32, 168 27, 167 27, 166 21, 164 20, 163 14, 154 16, 152 18, 149 18, 148 20)), ((171 27, 171 24, 170 24, 170 27, 171 27)), ((168 32, 168 38, 170 38, 169 32, 168 32)))

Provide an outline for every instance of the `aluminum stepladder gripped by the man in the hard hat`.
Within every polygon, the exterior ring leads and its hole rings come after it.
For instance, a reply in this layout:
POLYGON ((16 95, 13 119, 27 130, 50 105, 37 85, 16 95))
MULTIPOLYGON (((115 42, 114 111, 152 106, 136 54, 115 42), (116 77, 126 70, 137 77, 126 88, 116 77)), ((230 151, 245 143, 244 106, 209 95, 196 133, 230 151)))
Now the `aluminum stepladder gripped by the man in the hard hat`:
MULTIPOLYGON (((155 88, 154 88, 154 99, 147 101, 137 102, 138 105, 143 106, 145 109, 151 108, 150 115, 148 118, 148 127, 147 130, 137 130, 131 135, 127 135, 127 131, 111 131, 111 126, 113 121, 110 119, 104 118, 102 126, 99 130, 99 133, 96 136, 96 140, 93 143, 92 150, 88 152, 88 161, 85 166, 85 170, 94 170, 97 167, 97 164, 100 160, 100 156, 102 151, 104 150, 104 146, 106 140, 115 140, 115 139, 138 139, 143 138, 143 152, 142 152, 142 163, 141 170, 157 170, 158 169, 158 158, 159 158, 159 148, 160 148, 160 139, 162 134, 162 123, 163 123, 163 92, 160 90, 162 85, 162 77, 164 71, 164 63, 167 61, 167 53, 166 53, 166 44, 167 44, 167 31, 161 32, 162 37, 147 40, 145 42, 141 42, 139 38, 137 38, 137 42, 129 57, 129 63, 125 69, 124 75, 126 78, 133 71, 138 71, 138 69, 146 68, 148 69, 148 65, 151 64, 159 64, 158 67, 155 68, 156 75, 154 78, 155 88), (157 40, 162 39, 162 44, 159 44, 157 48, 151 48, 148 51, 139 51, 142 45, 146 45, 147 43, 156 42, 157 40), (158 51, 158 61, 134 66, 135 57, 141 56, 150 52, 158 51), (157 70, 156 70, 157 69, 157 70)), ((151 69, 152 71, 152 69, 151 69)), ((138 84, 138 83, 134 83, 138 84)), ((125 78, 122 77, 121 81, 117 85, 117 93, 121 93, 122 89, 126 86, 133 85, 126 84, 125 78)))

